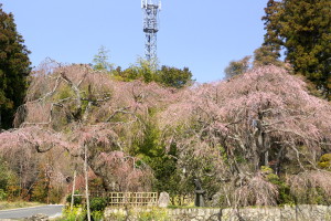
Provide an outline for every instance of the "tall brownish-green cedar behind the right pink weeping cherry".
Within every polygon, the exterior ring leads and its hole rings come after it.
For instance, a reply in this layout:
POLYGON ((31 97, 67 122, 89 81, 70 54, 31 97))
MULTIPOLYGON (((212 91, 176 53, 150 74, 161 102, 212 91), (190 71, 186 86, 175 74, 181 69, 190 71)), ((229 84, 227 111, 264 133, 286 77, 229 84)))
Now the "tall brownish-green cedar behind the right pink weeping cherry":
POLYGON ((278 54, 284 46, 295 72, 331 99, 331 1, 269 0, 265 11, 264 44, 278 54))

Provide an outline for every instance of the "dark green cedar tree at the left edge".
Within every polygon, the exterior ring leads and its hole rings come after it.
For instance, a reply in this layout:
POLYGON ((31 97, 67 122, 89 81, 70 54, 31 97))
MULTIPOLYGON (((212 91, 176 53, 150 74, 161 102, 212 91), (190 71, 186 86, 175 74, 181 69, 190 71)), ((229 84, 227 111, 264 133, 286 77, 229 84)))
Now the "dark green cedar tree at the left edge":
POLYGON ((23 43, 13 14, 6 13, 0 3, 0 129, 12 126, 14 112, 25 96, 31 62, 23 43))

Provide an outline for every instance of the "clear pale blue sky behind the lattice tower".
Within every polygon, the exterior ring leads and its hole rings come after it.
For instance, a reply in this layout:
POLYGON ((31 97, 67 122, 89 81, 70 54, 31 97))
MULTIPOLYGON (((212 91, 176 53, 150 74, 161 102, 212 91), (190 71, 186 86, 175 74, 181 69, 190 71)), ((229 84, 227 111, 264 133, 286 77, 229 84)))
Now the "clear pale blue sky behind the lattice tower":
MULTIPOLYGON (((50 56, 90 63, 100 45, 124 69, 143 56, 140 0, 1 0, 32 52, 34 66, 50 56)), ((188 66, 197 82, 223 78, 232 60, 263 43, 267 0, 163 0, 158 33, 160 64, 188 66)))

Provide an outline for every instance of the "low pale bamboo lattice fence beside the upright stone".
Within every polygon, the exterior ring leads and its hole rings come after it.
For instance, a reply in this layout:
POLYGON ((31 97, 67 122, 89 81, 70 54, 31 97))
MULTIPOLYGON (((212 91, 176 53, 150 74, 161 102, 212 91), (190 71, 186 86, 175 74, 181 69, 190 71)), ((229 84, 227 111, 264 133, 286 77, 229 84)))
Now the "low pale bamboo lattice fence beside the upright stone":
MULTIPOLYGON (((94 194, 102 197, 100 194, 94 194)), ((105 192, 109 207, 153 207, 158 206, 157 192, 105 192)))

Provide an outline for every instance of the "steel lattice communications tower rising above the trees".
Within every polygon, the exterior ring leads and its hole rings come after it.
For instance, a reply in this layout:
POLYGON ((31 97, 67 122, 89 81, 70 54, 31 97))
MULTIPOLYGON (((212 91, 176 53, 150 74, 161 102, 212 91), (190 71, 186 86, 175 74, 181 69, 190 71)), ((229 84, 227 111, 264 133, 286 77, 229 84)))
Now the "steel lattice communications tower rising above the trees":
POLYGON ((141 0, 143 11, 143 32, 146 34, 145 57, 149 62, 157 60, 157 33, 159 31, 158 14, 161 10, 161 0, 141 0))

